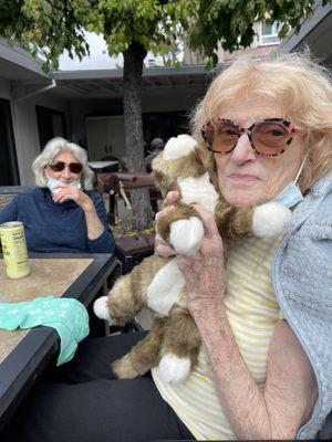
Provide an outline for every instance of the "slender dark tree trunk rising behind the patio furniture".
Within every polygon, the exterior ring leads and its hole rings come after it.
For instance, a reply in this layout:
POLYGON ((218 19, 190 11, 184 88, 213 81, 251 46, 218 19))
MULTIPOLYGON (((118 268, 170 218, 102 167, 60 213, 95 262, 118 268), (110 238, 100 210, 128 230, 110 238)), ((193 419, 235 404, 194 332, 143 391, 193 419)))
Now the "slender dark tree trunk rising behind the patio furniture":
MULTIPOLYGON (((123 52, 123 108, 126 146, 126 165, 129 171, 145 171, 142 120, 142 73, 146 50, 141 43, 132 42, 123 52)), ((152 223, 153 211, 146 189, 131 191, 134 227, 145 229, 152 223)))

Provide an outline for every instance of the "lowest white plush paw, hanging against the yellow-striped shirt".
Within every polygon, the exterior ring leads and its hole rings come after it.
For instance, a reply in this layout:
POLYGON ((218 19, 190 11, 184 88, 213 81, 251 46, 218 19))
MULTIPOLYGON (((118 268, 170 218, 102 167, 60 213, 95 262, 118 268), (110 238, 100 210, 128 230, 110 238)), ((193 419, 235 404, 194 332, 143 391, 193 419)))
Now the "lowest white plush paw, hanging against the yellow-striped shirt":
POLYGON ((190 367, 189 358, 179 358, 176 355, 168 354, 160 359, 158 370, 165 382, 179 383, 187 379, 190 367))

